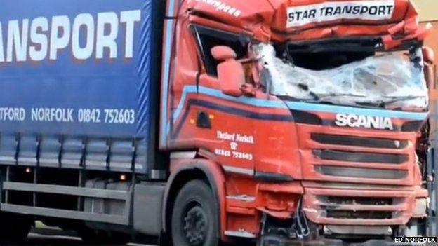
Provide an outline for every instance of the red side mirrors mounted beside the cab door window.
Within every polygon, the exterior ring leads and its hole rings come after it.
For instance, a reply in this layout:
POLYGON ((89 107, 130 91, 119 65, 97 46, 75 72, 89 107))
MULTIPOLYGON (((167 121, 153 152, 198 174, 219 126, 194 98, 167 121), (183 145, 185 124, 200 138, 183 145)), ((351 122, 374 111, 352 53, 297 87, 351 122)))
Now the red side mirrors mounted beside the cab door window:
POLYGON ((239 97, 242 95, 241 86, 245 83, 245 73, 242 64, 236 60, 237 55, 228 46, 215 46, 211 55, 218 64, 218 80, 225 95, 239 97))

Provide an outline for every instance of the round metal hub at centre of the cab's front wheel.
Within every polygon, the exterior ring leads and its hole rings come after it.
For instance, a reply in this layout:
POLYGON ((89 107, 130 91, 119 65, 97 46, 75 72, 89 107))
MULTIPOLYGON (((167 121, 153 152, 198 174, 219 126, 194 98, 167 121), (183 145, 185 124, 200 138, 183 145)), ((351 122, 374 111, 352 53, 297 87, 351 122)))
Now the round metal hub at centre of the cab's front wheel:
POLYGON ((184 217, 184 233, 185 238, 190 245, 203 245, 206 240, 206 224, 207 218, 202 207, 192 207, 187 211, 184 217))

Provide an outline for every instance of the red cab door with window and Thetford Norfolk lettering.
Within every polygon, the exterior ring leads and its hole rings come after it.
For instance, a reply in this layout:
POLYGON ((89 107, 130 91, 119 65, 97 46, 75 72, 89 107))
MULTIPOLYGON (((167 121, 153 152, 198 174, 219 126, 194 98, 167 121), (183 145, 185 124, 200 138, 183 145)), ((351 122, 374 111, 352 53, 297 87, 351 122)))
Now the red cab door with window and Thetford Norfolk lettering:
POLYGON ((255 128, 251 116, 257 114, 257 110, 249 103, 250 97, 238 95, 239 87, 236 95, 224 92, 224 83, 239 78, 245 81, 244 65, 237 60, 247 56, 249 39, 201 25, 192 25, 191 28, 197 39, 201 63, 197 97, 192 102, 192 118, 197 125, 193 141, 198 141, 225 170, 253 175, 255 128), (212 49, 218 46, 234 53, 229 64, 214 57, 212 49), (224 72, 220 71, 220 66, 225 69, 228 80, 220 78, 220 72, 224 72))

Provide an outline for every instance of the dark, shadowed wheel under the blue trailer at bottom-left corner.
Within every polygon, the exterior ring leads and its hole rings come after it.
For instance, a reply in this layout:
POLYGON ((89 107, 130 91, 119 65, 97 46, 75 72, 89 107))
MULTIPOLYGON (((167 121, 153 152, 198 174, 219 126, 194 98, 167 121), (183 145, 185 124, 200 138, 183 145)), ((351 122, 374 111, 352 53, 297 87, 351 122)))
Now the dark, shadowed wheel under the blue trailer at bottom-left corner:
POLYGON ((26 241, 34 220, 21 214, 0 212, 0 245, 21 244, 26 241))

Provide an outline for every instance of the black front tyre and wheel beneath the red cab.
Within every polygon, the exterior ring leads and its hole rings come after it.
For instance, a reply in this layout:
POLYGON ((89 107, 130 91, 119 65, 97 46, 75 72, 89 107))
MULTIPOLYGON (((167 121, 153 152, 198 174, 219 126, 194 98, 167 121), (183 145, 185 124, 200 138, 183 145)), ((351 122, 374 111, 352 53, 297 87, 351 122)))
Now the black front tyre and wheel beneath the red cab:
POLYGON ((172 213, 174 246, 218 246, 218 206, 210 187, 201 180, 183 186, 172 213))

